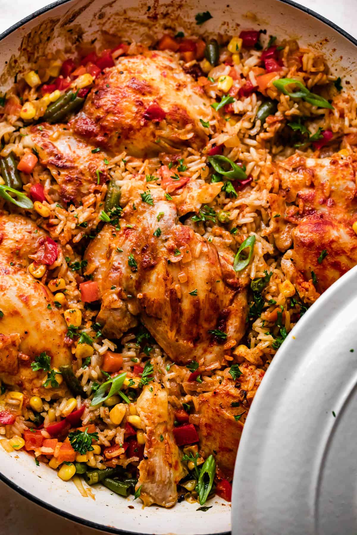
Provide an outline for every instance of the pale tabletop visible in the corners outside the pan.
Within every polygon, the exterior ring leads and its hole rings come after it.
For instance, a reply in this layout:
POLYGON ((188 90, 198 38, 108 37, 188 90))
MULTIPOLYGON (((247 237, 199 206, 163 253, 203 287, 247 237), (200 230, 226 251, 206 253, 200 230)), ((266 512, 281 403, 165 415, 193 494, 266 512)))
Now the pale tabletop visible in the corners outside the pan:
MULTIPOLYGON (((148 3, 150 3, 148 1, 148 3)), ((300 0, 306 7, 332 20, 357 37, 355 8, 357 0, 300 0)), ((0 0, 0 33, 6 28, 40 9, 43 0, 0 0)), ((1 46, 1 44, 0 44, 1 46)), ((83 528, 78 524, 49 513, 22 498, 0 482, 0 535, 99 535, 102 532, 83 528)))

